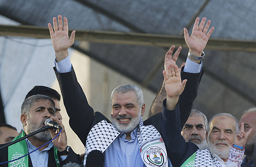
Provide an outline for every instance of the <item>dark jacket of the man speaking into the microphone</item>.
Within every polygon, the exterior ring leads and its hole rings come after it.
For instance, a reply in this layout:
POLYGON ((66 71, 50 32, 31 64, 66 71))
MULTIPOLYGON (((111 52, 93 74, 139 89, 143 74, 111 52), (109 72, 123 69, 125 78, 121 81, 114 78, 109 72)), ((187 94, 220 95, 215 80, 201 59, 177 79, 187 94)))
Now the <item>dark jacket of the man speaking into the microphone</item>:
MULTIPOLYGON (((2 146, 3 145, 0 145, 0 147, 2 147, 2 146)), ((48 153, 49 153, 48 166, 49 167, 57 167, 55 159, 54 159, 53 147, 48 151, 48 153)), ((59 157, 61 166, 63 166, 64 164, 66 164, 68 162, 81 164, 81 162, 79 161, 79 154, 76 154, 71 148, 68 150, 67 158, 64 161, 61 161, 61 158, 59 155, 58 155, 58 157, 59 157)), ((7 161, 8 161, 8 148, 5 148, 5 149, 0 150, 0 163, 7 162, 7 161)), ((29 167, 32 167, 32 162, 31 162, 30 156, 28 159, 28 165, 29 165, 29 167)), ((8 167, 8 163, 1 164, 0 167, 8 167)))

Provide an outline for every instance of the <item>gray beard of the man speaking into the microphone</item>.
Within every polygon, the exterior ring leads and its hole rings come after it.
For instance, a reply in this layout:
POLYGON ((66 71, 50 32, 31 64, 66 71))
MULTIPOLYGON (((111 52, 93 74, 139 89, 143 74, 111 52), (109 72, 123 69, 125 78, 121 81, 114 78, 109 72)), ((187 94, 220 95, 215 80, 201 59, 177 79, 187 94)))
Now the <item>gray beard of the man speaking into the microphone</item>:
MULTIPOLYGON (((43 120, 40 123, 40 125, 37 125, 36 123, 32 122, 30 120, 30 117, 28 116, 28 123, 27 123, 27 127, 26 127, 27 133, 31 134, 31 133, 36 132, 37 130, 39 130, 42 127, 42 125, 44 124, 44 121, 45 120, 43 120)), ((33 137, 38 139, 38 140, 41 140, 41 141, 49 141, 49 140, 52 139, 51 133, 50 133, 49 130, 46 130, 44 132, 40 132, 40 133, 38 133, 36 135, 33 135, 33 137)))

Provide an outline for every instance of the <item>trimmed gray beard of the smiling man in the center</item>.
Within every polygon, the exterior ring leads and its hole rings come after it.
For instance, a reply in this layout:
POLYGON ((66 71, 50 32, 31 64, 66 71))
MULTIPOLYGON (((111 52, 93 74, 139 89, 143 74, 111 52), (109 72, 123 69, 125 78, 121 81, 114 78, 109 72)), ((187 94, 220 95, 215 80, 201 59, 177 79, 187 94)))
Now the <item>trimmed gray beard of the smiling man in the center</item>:
POLYGON ((111 120, 115 128, 117 128, 119 132, 128 133, 128 132, 132 132, 133 129, 135 129, 138 126, 139 122, 141 122, 141 119, 142 119, 141 113, 142 112, 140 110, 138 113, 138 116, 135 118, 131 118, 129 116, 116 116, 115 118, 113 118, 111 116, 111 120), (117 118, 131 118, 131 122, 129 124, 121 124, 118 122, 117 118))

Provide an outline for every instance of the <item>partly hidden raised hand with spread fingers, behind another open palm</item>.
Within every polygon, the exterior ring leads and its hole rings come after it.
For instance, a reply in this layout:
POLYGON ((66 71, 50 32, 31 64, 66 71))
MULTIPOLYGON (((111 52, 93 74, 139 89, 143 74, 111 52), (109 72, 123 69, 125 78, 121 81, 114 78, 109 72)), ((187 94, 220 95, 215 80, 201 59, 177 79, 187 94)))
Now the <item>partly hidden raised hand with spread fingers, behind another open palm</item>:
MULTIPOLYGON (((180 46, 177 51, 172 55, 172 52, 174 50, 175 46, 172 45, 169 49, 169 51, 165 54, 165 70, 167 71, 167 67, 170 66, 171 64, 176 64, 176 61, 178 59, 178 56, 180 54, 180 51, 182 49, 182 47, 180 46)), ((181 70, 181 68, 185 65, 185 63, 183 62, 179 68, 179 71, 181 70)))

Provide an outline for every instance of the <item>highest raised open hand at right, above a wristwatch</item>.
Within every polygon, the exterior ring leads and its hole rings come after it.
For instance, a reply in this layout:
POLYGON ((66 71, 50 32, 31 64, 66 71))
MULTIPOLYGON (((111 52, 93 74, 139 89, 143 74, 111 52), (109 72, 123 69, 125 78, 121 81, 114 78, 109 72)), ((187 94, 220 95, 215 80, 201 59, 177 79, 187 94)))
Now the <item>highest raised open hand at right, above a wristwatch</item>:
POLYGON ((205 21, 206 21, 205 17, 202 19, 200 25, 199 25, 199 20, 200 20, 199 17, 195 19, 194 27, 190 37, 189 37, 188 30, 184 28, 185 42, 189 46, 189 52, 195 56, 201 56, 202 51, 204 50, 206 43, 208 42, 208 39, 210 38, 214 30, 214 27, 212 27, 208 31, 211 24, 211 20, 208 20, 206 25, 205 25, 205 21))

